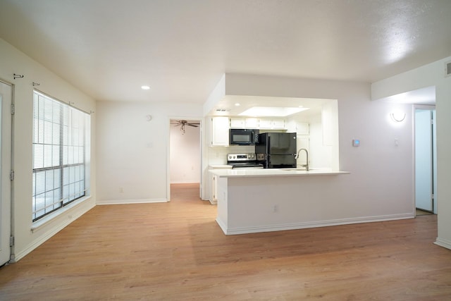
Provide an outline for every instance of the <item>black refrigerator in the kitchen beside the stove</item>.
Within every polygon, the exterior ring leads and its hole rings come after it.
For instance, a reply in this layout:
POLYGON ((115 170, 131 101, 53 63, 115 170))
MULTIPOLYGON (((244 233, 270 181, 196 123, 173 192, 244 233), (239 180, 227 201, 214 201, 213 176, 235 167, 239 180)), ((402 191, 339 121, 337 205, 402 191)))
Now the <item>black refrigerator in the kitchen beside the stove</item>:
POLYGON ((255 152, 264 168, 295 168, 296 133, 262 133, 255 152))

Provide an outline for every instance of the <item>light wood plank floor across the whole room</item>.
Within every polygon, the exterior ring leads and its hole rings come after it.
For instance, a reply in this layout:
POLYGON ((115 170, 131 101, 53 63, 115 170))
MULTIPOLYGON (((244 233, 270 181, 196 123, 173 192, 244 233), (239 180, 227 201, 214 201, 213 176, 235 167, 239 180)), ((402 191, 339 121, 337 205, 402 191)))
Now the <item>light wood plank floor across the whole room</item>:
POLYGON ((451 300, 435 215, 226 236, 198 195, 95 207, 0 269, 0 300, 451 300))

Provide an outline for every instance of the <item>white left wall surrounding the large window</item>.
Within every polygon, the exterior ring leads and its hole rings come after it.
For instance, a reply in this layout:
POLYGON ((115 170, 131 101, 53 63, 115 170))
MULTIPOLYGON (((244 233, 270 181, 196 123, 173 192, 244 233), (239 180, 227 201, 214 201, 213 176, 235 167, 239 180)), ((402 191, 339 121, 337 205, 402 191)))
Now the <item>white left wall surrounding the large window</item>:
POLYGON ((83 111, 96 111, 94 99, 77 90, 65 80, 59 78, 50 70, 30 59, 10 44, 0 39, 0 78, 13 83, 16 114, 14 116, 13 133, 13 166, 16 178, 13 181, 13 216, 12 231, 15 237, 13 254, 16 260, 24 257, 45 240, 94 207, 96 202, 95 183, 95 113, 91 116, 91 190, 90 197, 80 204, 67 209, 63 214, 42 223, 39 228, 32 225, 32 112, 33 86, 38 82, 40 91, 71 102, 73 106, 83 111), (24 75, 24 78, 13 79, 13 73, 24 75), (32 230, 33 228, 33 230, 32 230))

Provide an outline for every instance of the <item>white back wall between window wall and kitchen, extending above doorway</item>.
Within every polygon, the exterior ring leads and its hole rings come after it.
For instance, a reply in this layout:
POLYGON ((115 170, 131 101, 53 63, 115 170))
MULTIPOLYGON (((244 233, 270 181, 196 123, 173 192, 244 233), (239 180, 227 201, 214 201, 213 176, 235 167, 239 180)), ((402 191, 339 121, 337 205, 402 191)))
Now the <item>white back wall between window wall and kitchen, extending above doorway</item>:
POLYGON ((97 102, 97 204, 168 201, 171 116, 201 115, 196 104, 97 102))

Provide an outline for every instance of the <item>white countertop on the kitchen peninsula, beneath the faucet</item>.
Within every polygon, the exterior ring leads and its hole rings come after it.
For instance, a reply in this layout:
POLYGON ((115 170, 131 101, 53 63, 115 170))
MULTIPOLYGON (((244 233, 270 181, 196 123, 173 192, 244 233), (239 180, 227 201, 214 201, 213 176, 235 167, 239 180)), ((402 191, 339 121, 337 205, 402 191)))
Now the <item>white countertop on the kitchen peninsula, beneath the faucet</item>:
POLYGON ((315 169, 309 171, 295 168, 264 168, 264 169, 211 169, 211 173, 221 178, 243 178, 243 177, 273 177, 273 176, 327 176, 350 173, 349 171, 332 171, 330 169, 315 169))

